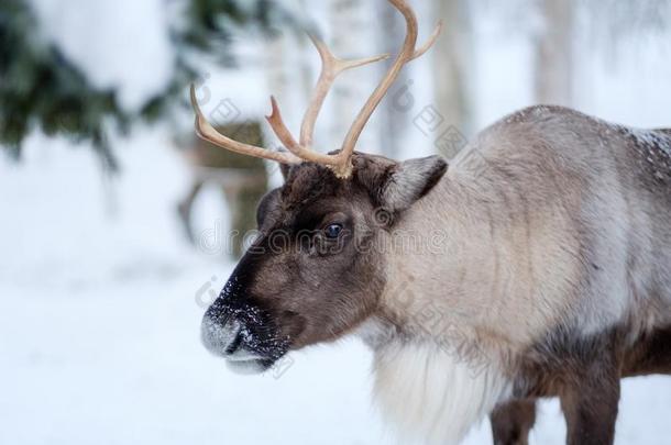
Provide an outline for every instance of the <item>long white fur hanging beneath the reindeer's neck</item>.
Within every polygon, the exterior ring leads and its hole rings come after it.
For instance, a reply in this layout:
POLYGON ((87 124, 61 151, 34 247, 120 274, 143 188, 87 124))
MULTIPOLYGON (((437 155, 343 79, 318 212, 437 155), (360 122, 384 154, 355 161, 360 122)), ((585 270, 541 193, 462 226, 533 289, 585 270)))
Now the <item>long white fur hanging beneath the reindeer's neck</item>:
POLYGON ((459 444, 510 393, 499 367, 475 366, 430 342, 393 340, 374 351, 375 398, 398 443, 459 444))

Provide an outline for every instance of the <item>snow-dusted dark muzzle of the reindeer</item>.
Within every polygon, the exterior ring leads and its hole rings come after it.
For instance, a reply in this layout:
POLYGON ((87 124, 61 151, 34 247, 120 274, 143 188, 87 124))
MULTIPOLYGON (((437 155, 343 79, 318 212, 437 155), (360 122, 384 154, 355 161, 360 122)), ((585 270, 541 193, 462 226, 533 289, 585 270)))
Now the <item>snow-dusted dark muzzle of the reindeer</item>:
POLYGON ((207 310, 200 332, 205 347, 240 374, 267 370, 289 346, 264 311, 224 296, 207 310))

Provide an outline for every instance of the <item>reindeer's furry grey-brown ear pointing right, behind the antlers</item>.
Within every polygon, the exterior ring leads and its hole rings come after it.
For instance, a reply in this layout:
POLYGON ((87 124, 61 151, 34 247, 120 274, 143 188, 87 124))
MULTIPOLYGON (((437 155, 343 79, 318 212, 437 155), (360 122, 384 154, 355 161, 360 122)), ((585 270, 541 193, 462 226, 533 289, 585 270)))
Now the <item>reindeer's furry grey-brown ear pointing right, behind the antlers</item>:
POLYGON ((431 191, 448 170, 448 163, 440 156, 402 163, 361 156, 355 167, 356 177, 369 188, 374 204, 389 212, 400 212, 431 191))

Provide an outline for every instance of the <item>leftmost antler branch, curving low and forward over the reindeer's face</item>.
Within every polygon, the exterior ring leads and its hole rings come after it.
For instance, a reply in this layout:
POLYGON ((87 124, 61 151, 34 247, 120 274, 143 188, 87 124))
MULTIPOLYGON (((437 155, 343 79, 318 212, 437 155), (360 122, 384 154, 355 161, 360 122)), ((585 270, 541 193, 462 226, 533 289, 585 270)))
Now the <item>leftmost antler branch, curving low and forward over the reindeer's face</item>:
POLYGON ((241 155, 249 155, 263 159, 276 160, 282 164, 297 164, 301 162, 301 159, 295 156, 293 153, 271 152, 262 147, 233 141, 224 136, 223 134, 215 130, 215 127, 202 115, 202 111, 200 110, 200 107, 198 105, 198 100, 196 99, 196 87, 193 84, 190 96, 191 105, 194 107, 194 111, 196 112, 196 134, 204 141, 210 142, 228 151, 240 153, 241 155))

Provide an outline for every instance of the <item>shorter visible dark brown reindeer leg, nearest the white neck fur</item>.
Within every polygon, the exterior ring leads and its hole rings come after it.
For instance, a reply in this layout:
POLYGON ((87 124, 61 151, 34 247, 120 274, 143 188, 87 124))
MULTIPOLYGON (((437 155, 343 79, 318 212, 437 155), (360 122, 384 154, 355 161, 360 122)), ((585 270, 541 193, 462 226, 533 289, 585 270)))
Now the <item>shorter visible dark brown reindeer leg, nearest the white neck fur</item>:
POLYGON ((494 445, 527 445, 536 422, 536 400, 515 400, 497 407, 490 415, 494 445))

